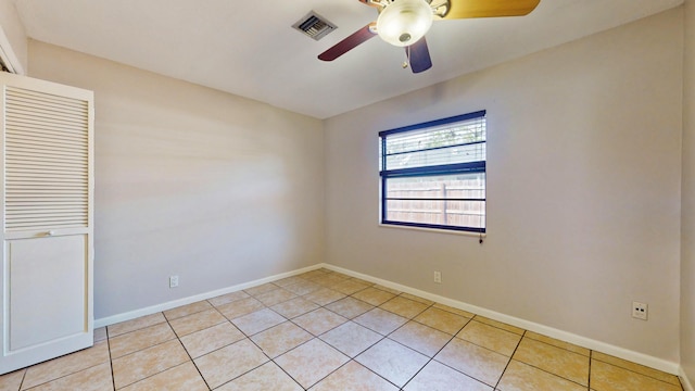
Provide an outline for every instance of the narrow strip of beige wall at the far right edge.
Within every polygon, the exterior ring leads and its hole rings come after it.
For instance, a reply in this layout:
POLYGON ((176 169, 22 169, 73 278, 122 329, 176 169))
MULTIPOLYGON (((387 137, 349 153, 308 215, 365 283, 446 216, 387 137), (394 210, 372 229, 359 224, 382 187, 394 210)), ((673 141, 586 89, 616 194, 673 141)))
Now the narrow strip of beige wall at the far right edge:
POLYGON ((681 366, 695 380, 695 1, 685 1, 681 230, 681 366))

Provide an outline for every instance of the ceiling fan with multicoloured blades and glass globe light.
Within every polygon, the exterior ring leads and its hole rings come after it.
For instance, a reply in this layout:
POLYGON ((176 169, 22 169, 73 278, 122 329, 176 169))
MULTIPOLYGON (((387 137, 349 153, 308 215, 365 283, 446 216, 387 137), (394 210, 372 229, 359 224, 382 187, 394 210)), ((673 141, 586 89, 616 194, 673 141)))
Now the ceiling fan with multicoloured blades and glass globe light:
MULTIPOLYGON (((432 21, 471 17, 522 16, 533 11, 541 0, 359 0, 379 12, 371 22, 318 55, 333 61, 378 35, 396 47, 405 48, 413 73, 432 67, 425 34, 432 21)), ((407 63, 404 66, 407 66, 407 63)))

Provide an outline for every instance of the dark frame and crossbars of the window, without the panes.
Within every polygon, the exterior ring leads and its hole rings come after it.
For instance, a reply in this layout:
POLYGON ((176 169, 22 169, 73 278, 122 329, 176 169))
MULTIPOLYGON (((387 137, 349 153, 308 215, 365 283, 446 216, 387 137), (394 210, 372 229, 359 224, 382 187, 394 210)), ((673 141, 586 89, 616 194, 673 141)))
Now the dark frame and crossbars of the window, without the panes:
MULTIPOLYGON (((486 198, 488 198, 488 177, 486 177, 486 153, 484 161, 475 161, 468 163, 455 163, 455 164, 440 164, 440 165, 429 165, 429 166, 419 166, 419 167, 410 167, 410 168, 396 168, 396 169, 387 169, 387 139, 389 135, 403 134, 407 131, 422 130, 430 127, 438 127, 442 125, 483 118, 486 123, 486 110, 481 110, 472 113, 451 116, 446 118, 425 122, 420 124, 399 127, 389 130, 379 131, 379 149, 380 149, 380 167, 379 167, 379 176, 380 176, 380 202, 381 202, 381 211, 380 211, 380 223, 383 225, 390 226, 404 226, 404 227, 416 227, 416 228, 429 228, 429 229, 443 229, 443 230, 452 230, 452 231, 464 231, 464 232, 475 232, 475 234, 485 234, 486 232, 486 216, 488 216, 488 206, 486 206, 486 198), (440 224, 425 224, 425 223, 412 223, 412 222, 399 222, 399 220, 389 220, 387 218, 388 209, 387 202, 389 200, 397 200, 397 199, 389 199, 386 194, 387 189, 387 179, 389 178, 402 178, 402 177, 434 177, 440 175, 451 175, 451 174, 480 174, 484 175, 484 198, 482 199, 454 199, 455 201, 482 201, 484 202, 483 207, 483 224, 482 227, 466 227, 466 226, 453 226, 453 225, 440 225, 440 224)), ((486 125, 485 125, 486 128, 486 125)), ((484 141, 472 141, 462 146, 469 146, 476 143, 484 143, 486 150, 488 143, 488 135, 485 129, 485 140, 484 141)), ((448 147, 444 147, 448 148, 448 147)), ((435 148, 433 148, 435 149, 435 148)), ((426 149, 421 150, 425 151, 426 149)), ((417 199, 408 199, 408 200, 417 200, 417 199)), ((432 199, 427 199, 432 200, 432 199)), ((444 200, 444 199, 443 199, 444 200)), ((452 199, 450 199, 452 200, 452 199)))

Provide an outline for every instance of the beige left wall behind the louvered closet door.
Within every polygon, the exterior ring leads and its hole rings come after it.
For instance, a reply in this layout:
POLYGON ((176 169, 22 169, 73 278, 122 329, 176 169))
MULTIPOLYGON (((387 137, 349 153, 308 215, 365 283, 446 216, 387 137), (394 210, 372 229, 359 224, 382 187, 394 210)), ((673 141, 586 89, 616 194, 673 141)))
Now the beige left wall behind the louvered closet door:
POLYGON ((323 262, 318 119, 41 42, 29 58, 94 91, 96 318, 323 262))

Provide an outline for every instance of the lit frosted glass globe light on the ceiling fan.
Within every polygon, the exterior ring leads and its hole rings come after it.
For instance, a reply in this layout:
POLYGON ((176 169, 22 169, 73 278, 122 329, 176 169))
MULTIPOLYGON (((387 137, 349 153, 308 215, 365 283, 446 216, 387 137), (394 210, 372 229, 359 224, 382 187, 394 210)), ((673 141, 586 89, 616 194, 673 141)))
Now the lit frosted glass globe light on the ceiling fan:
POLYGON ((394 0, 377 20, 379 37, 397 47, 417 42, 431 26, 432 8, 425 0, 394 0))

